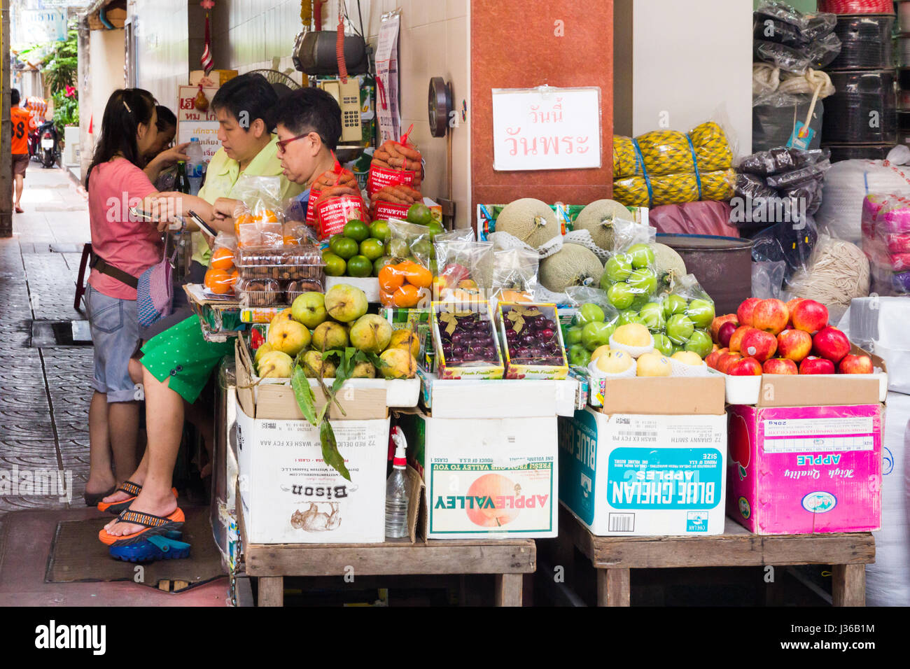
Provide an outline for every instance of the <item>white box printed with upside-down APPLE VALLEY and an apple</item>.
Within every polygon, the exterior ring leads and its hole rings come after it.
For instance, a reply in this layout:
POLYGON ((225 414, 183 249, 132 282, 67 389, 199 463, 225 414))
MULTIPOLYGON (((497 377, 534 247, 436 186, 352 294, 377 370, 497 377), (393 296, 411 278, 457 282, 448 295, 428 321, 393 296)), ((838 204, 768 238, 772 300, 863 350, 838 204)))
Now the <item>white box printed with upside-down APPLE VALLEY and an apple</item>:
POLYGON ((400 417, 426 486, 428 539, 557 535, 556 417, 400 417))

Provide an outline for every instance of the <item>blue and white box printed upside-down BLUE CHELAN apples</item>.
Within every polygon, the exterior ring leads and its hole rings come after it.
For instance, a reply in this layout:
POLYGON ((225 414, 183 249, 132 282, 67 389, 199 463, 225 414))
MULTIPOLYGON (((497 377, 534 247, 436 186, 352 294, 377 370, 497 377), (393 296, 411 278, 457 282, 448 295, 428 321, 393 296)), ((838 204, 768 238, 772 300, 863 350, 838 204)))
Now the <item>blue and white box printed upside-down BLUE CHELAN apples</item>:
POLYGON ((723 534, 727 419, 561 418, 560 501, 598 536, 723 534))

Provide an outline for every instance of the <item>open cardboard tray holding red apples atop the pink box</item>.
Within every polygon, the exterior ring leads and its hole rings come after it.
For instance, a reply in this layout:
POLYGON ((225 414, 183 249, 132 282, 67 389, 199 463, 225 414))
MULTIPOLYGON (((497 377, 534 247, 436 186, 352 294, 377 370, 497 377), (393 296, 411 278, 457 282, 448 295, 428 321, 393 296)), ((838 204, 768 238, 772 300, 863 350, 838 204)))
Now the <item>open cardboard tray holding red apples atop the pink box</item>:
POLYGON ((875 374, 763 374, 731 376, 717 370, 726 383, 728 404, 750 404, 756 407, 814 407, 876 404, 888 394, 888 370, 885 360, 860 349, 851 352, 872 358, 875 374))

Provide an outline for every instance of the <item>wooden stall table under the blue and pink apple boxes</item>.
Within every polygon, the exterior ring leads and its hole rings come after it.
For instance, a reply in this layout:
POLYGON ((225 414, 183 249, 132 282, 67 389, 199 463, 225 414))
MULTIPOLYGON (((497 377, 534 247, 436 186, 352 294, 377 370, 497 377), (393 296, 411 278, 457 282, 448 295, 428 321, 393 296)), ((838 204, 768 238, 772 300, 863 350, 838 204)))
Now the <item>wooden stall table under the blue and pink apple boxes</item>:
POLYGON ((769 564, 831 564, 834 606, 864 606, 865 565, 875 562, 871 532, 753 534, 727 518, 723 534, 713 536, 598 537, 563 506, 560 540, 597 570, 598 606, 629 606, 632 569, 769 564))

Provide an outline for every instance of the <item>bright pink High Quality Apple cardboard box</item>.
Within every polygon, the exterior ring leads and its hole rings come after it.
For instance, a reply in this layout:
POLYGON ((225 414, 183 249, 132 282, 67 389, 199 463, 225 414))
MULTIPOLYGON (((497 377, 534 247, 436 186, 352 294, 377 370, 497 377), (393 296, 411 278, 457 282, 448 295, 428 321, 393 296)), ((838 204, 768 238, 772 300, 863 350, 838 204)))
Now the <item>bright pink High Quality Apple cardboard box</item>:
POLYGON ((756 534, 878 530, 884 411, 730 406, 728 515, 756 534))

